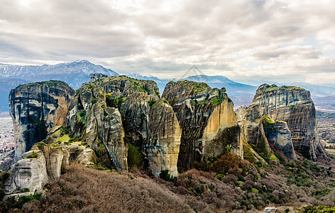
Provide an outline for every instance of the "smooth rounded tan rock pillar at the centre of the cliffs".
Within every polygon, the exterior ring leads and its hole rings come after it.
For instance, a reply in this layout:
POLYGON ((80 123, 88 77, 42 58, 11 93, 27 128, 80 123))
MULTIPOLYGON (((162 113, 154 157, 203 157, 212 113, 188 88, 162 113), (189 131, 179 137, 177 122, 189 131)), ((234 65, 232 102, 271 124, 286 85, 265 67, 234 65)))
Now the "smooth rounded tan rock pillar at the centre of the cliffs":
POLYGON ((145 153, 153 174, 159 176, 161 170, 169 170, 177 177, 177 160, 182 129, 175 113, 164 98, 155 102, 150 109, 148 142, 145 153))

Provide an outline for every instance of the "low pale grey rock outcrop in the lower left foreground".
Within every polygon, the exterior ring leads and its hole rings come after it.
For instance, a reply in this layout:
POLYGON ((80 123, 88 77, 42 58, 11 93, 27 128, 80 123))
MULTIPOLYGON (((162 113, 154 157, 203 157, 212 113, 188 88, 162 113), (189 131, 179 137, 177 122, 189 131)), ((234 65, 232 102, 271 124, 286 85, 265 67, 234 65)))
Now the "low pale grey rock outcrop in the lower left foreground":
POLYGON ((52 129, 45 140, 50 144, 36 143, 31 151, 23 153, 23 159, 12 165, 11 176, 4 186, 6 195, 41 190, 46 183, 60 178, 70 160, 86 166, 96 163, 94 151, 81 141, 67 143, 69 137, 62 134, 63 130, 64 126, 52 129))

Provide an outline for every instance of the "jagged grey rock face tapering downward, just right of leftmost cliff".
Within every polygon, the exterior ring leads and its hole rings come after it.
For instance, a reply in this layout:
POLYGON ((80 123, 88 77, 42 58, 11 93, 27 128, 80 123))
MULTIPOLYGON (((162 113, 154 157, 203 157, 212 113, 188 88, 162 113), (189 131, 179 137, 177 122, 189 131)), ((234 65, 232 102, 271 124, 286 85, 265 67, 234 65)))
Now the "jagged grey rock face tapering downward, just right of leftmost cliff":
POLYGON ((67 114, 67 125, 99 153, 104 164, 128 170, 128 146, 123 141, 121 115, 118 109, 107 107, 105 90, 99 84, 91 82, 77 90, 67 114))

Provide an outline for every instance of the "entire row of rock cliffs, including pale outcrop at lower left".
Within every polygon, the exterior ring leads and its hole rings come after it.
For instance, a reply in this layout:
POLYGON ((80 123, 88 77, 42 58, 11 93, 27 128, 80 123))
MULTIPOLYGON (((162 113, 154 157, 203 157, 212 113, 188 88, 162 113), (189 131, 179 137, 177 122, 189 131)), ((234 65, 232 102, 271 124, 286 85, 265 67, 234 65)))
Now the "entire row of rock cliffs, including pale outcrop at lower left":
POLYGON ((298 87, 263 84, 237 114, 225 88, 169 82, 160 97, 153 81, 101 74, 90 75, 76 92, 58 81, 24 84, 10 100, 18 162, 7 195, 41 190, 71 160, 177 176, 177 168, 226 151, 253 163, 278 160, 272 143, 294 160, 295 150, 312 159, 323 152, 314 104, 298 87))

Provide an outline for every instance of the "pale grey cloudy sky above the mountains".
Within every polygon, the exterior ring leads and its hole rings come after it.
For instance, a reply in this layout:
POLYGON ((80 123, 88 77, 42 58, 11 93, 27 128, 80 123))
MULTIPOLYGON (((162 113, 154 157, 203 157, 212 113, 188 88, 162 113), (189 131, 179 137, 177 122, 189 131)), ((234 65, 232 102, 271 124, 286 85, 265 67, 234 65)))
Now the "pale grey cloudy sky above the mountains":
POLYGON ((0 0, 0 62, 335 84, 335 1, 0 0))

